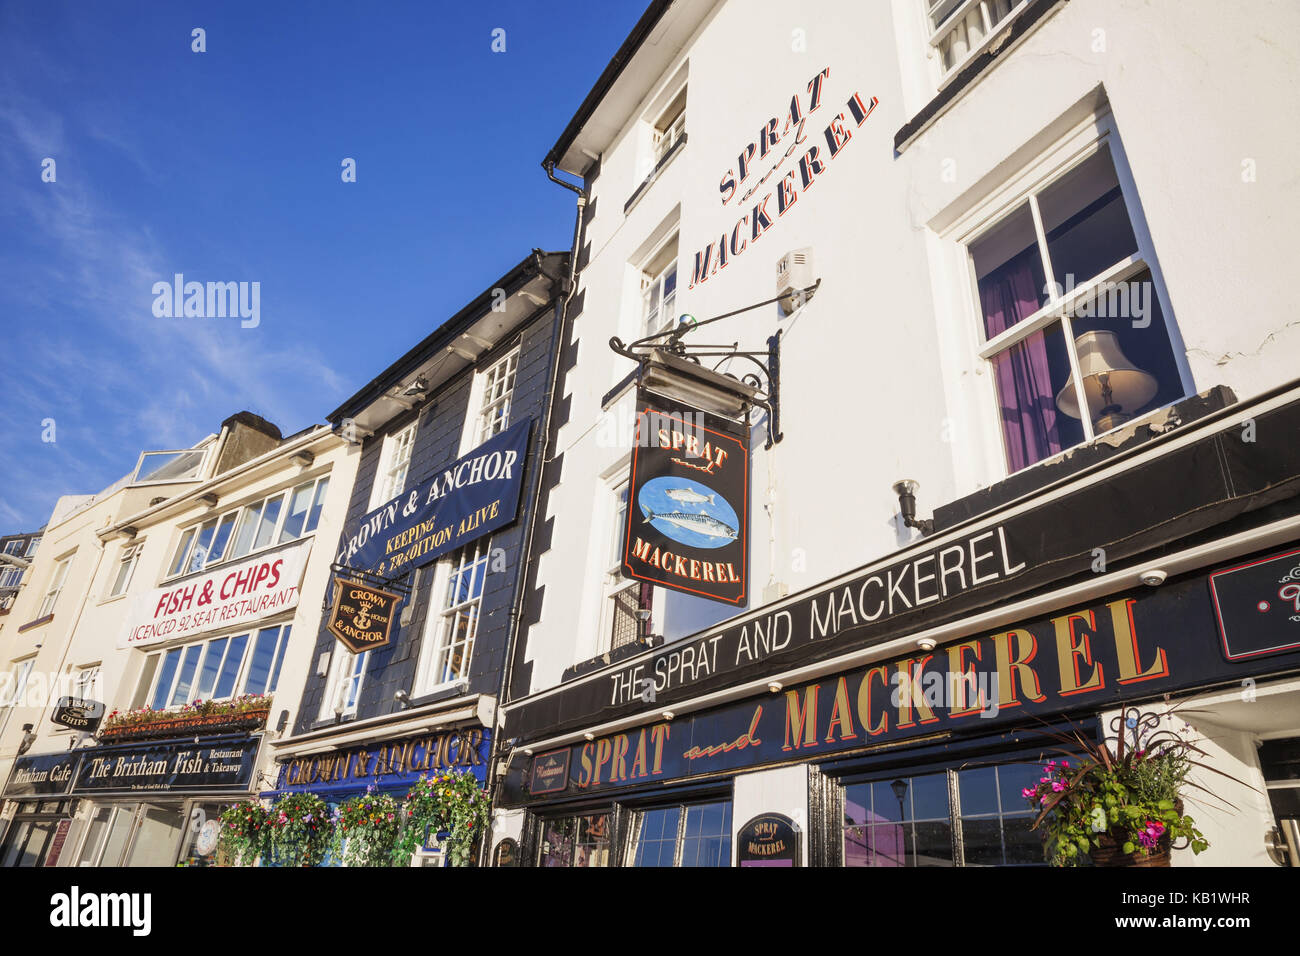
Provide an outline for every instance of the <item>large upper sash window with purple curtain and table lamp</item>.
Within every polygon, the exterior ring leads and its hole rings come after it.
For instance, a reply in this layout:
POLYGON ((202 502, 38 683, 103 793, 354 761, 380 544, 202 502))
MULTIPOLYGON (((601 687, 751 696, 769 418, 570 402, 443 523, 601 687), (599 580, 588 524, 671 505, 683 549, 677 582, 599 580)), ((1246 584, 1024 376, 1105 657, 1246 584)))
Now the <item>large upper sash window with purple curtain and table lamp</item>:
POLYGON ((967 250, 1009 471, 1187 394, 1109 140, 967 250))

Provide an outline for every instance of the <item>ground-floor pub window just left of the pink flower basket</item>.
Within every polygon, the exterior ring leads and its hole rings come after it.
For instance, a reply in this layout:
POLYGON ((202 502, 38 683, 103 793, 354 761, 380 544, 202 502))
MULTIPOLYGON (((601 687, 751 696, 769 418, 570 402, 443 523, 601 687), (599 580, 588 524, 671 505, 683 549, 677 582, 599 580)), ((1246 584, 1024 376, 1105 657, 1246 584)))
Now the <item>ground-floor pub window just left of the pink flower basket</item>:
POLYGON ((1041 865, 1035 814, 1020 796, 1041 774, 1026 762, 848 783, 844 865, 1041 865))

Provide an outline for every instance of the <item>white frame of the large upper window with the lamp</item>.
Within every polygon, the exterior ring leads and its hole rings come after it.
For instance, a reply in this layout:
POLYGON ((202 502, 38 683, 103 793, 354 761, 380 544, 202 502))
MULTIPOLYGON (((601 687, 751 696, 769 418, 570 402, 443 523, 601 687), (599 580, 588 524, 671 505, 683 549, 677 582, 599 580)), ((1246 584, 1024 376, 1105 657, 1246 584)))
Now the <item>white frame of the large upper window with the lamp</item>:
MULTIPOLYGON (((954 239, 959 250, 958 261, 963 282, 966 308, 963 310, 965 315, 961 316, 961 321, 965 328, 958 330, 958 341, 966 341, 970 343, 968 347, 978 359, 982 377, 985 382, 984 405, 988 411, 983 416, 984 420, 998 420, 998 402, 992 369, 993 358, 1017 342, 1023 341, 1028 336, 1041 332, 1046 326, 1058 321, 1062 325, 1062 336, 1067 343, 1066 351, 1070 359, 1071 381, 1075 385, 1076 395, 1083 399, 1084 397, 1080 394, 1082 384, 1079 364, 1075 355, 1071 326, 1069 325, 1069 316, 1078 308, 1079 303, 1083 302, 1086 297, 1095 295, 1098 287, 1104 287, 1112 282, 1123 281, 1144 271, 1149 271, 1152 276, 1152 285, 1156 290, 1156 298, 1165 323, 1165 333, 1169 338, 1183 397, 1186 398, 1187 395, 1195 394, 1193 378, 1191 367, 1187 363, 1182 333, 1179 332, 1176 317, 1169 304, 1169 295, 1165 290, 1164 277, 1156 258, 1150 232, 1147 228, 1141 203, 1136 194, 1136 186, 1128 169, 1127 157, 1123 152, 1123 144, 1115 129, 1114 116, 1109 109, 1098 113, 1097 116, 1089 116, 1083 122, 1076 124, 1074 129, 1062 135, 1056 144, 1048 147, 1048 150, 1041 152, 1037 159, 1027 164, 1019 174, 1013 177, 1002 187, 994 190, 983 202, 958 217, 957 221, 945 232, 945 238, 954 239), (1134 237, 1138 241, 1138 251, 1127 259, 1115 263, 1101 274, 1093 277, 1083 285, 1075 286, 1069 291, 1058 285, 1054 276, 1049 276, 1048 286, 1050 287, 1050 294, 1046 304, 1005 332, 994 336, 993 338, 988 338, 984 333, 984 319, 983 310, 980 307, 975 264, 970 255, 971 245, 978 242, 983 235, 988 234, 989 230, 1001 224, 1008 216, 1019 211, 1022 206, 1031 203, 1031 215, 1034 217, 1035 235, 1037 237, 1039 250, 1044 260, 1050 263, 1050 256, 1048 255, 1044 239, 1041 216, 1037 212, 1037 200, 1034 196, 1070 173, 1075 166, 1091 159, 1102 147, 1109 147, 1110 150, 1110 159, 1114 164, 1115 177, 1119 181, 1119 193, 1123 198, 1124 211, 1128 216, 1128 224, 1132 228, 1134 237)), ((1182 399, 1175 399, 1175 402, 1176 401, 1182 399)), ((1088 408, 1087 401, 1084 399, 1079 407, 1088 408)), ((1167 407, 1167 405, 1162 407, 1167 407)), ((1148 410, 1143 412, 1143 415, 1149 415, 1152 411, 1157 410, 1148 410)), ((1079 420, 1083 424, 1083 440, 1076 445, 1062 447, 1061 453, 1057 454, 1062 454, 1070 449, 1082 447, 1097 437, 1089 415, 1083 415, 1079 420)), ((1119 425, 1119 428, 1123 427, 1124 425, 1119 425)), ((997 429, 996 446, 997 468, 1000 470, 1001 476, 1008 476, 1013 472, 1006 454, 1005 436, 1001 429, 997 429)), ((1040 459, 1034 464, 1026 466, 1022 471, 1028 471, 1030 468, 1043 464, 1043 462, 1049 462, 1053 458, 1056 458, 1056 455, 1049 455, 1048 458, 1040 459)))

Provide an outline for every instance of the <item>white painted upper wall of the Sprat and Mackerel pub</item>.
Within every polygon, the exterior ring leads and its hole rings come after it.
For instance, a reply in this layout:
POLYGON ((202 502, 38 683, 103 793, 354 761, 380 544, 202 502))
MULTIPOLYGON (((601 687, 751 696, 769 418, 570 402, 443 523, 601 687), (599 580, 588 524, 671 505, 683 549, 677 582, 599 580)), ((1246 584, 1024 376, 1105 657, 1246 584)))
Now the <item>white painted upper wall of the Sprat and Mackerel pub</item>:
MULTIPOLYGON (((776 260, 805 246, 823 281, 793 320, 768 306, 696 336, 755 349, 776 329, 785 333, 785 441, 763 451, 762 427, 754 433, 751 607, 770 583, 811 587, 909 540, 896 523, 894 480, 920 481, 924 515, 1005 477, 991 376, 975 355, 976 304, 952 226, 1046 140, 1086 120, 1080 103, 1098 91, 1118 134, 1121 178, 1140 203, 1136 226, 1149 233, 1186 346, 1191 388, 1227 385, 1245 398, 1294 378, 1300 323, 1283 297, 1300 209, 1292 173, 1300 131, 1279 122, 1292 112, 1295 60, 1275 38, 1296 35, 1300 7, 1248 7, 1225 17, 1210 0, 1072 0, 896 155, 894 133, 935 91, 922 0, 719 3, 671 66, 641 78, 642 103, 621 117, 592 185, 597 213, 584 237, 590 261, 573 330, 578 362, 563 382, 571 416, 552 450, 564 467, 546 505, 555 533, 538 559, 545 606, 528 635, 532 689, 555 685, 608 640, 601 628, 608 488, 625 473, 630 399, 614 410, 621 428, 602 427, 599 401, 630 363, 607 341, 637 337, 636 265, 672 228, 680 230, 677 312, 706 319, 771 297, 776 260), (827 66, 809 144, 824 159, 822 130, 841 111, 852 140, 807 193, 798 189, 783 217, 772 200, 767 234, 688 289, 694 254, 753 206, 737 208, 738 194, 723 206, 720 178, 792 95, 807 109, 807 83, 827 66), (644 117, 682 69, 689 142, 624 216, 642 179, 644 117), (845 111, 855 92, 879 98, 861 127, 845 111), (1253 179, 1243 178, 1247 160, 1253 179)), ((758 176, 767 165, 757 163, 758 176)), ((655 630, 675 640, 729 614, 660 591, 655 630)))

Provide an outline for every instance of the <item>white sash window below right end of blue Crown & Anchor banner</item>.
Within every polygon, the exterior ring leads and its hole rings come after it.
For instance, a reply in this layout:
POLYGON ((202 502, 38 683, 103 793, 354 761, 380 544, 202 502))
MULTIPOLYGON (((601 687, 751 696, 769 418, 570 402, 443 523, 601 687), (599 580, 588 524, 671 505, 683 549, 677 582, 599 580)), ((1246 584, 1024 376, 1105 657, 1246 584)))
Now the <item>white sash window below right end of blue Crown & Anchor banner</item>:
POLYGON ((491 538, 478 538, 438 564, 433 593, 441 593, 442 598, 437 605, 438 613, 430 614, 425 623, 417 693, 429 693, 469 678, 490 542, 491 538))

